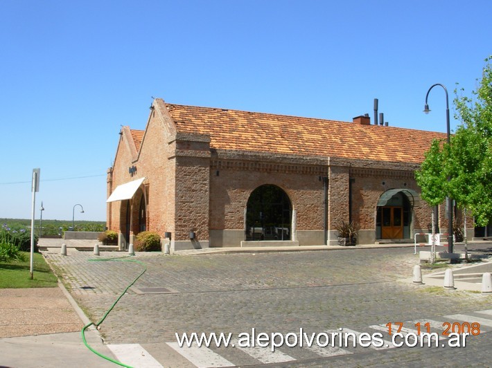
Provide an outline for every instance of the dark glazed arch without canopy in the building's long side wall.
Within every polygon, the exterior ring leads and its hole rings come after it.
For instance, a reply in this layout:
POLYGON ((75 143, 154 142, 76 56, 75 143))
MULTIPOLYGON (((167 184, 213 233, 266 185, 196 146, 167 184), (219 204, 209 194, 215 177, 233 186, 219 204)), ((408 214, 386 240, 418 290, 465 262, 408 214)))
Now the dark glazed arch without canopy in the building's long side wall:
POLYGON ((249 196, 246 240, 290 240, 292 204, 276 185, 261 185, 249 196))

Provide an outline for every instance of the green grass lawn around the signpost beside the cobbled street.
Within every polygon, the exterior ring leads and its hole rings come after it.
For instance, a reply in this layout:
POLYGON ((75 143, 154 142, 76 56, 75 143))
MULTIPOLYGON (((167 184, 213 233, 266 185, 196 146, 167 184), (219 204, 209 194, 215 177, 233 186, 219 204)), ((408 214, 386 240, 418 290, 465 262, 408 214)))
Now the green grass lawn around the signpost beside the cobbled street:
POLYGON ((34 253, 33 279, 30 279, 30 253, 26 255, 25 262, 0 262, 0 288, 53 288, 57 286, 58 279, 51 272, 44 257, 40 253, 34 253))

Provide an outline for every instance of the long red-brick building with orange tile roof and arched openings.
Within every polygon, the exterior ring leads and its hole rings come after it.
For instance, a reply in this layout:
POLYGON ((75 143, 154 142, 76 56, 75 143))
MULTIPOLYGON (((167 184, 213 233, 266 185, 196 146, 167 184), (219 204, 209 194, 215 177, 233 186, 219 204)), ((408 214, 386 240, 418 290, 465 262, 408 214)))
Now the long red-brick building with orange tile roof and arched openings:
MULTIPOLYGON (((123 246, 143 230, 171 249, 333 245, 353 221, 358 243, 428 232, 414 171, 445 134, 168 104, 145 131, 122 127, 107 172, 107 226, 123 246)), ((444 211, 439 225, 446 228, 444 211)))

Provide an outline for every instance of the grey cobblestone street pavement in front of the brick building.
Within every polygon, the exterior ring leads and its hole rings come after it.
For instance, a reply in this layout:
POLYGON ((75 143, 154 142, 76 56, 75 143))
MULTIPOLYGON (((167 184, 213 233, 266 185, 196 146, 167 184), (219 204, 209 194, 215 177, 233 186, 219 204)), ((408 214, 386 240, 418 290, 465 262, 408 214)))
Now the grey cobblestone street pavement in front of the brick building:
MULTIPOLYGON (((94 322, 144 269, 128 261, 89 261, 117 257, 114 252, 96 257, 70 249, 67 256, 54 251, 44 256, 94 322)), ((369 326, 388 322, 415 328, 414 323, 428 319, 453 322, 446 315, 483 318, 475 312, 492 309, 492 296, 403 281, 412 277, 419 261, 412 248, 193 256, 138 253, 132 259, 145 264, 146 273, 109 313, 100 333, 107 344, 140 344, 161 365, 170 367, 192 366, 166 344, 176 342, 175 333, 237 336, 252 328, 284 334, 299 328, 310 333, 340 328, 371 333, 369 326)), ((281 366, 489 367, 492 334, 484 332, 492 331, 490 323, 468 340, 466 348, 358 347, 350 354, 327 358, 294 347, 287 352, 295 361, 281 366)), ((234 348, 214 351, 234 365, 265 362, 234 348)))

